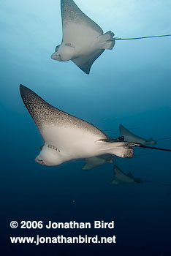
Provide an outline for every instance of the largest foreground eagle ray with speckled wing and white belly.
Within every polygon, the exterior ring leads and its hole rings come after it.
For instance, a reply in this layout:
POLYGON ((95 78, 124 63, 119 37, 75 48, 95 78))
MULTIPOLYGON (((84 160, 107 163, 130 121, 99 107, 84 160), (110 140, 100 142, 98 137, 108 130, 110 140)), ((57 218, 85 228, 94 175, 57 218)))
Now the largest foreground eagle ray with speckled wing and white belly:
POLYGON ((133 149, 123 140, 107 136, 94 125, 54 108, 34 91, 20 85, 20 94, 28 112, 45 140, 36 162, 60 165, 71 159, 85 159, 102 154, 132 157, 133 149))

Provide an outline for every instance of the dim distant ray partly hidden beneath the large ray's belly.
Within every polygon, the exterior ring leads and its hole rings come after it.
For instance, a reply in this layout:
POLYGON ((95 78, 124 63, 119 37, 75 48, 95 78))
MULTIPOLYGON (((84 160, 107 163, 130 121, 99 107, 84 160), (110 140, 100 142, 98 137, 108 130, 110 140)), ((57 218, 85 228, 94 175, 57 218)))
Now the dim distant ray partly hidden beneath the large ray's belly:
POLYGON ((94 167, 99 165, 104 165, 106 163, 113 163, 113 160, 116 159, 114 155, 104 154, 97 157, 89 157, 85 159, 86 164, 83 166, 83 170, 91 170, 94 167))

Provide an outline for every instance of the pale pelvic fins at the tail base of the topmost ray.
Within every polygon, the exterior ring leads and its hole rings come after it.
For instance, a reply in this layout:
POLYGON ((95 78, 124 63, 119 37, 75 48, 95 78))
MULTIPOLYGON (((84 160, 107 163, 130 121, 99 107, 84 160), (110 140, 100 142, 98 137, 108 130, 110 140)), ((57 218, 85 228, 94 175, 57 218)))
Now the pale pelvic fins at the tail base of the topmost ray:
POLYGON ((112 50, 115 45, 114 33, 112 31, 107 31, 98 37, 100 48, 112 50))

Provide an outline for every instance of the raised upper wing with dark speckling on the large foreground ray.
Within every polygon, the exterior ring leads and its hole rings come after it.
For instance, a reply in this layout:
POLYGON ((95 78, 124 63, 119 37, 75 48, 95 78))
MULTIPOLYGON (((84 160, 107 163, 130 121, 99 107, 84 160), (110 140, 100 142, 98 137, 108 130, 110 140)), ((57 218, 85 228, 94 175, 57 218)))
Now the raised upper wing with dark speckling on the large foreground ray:
MULTIPOLYGON (((58 110, 58 108, 54 108, 26 86, 20 85, 20 94, 44 140, 46 140, 46 137, 53 139, 53 135, 48 131, 49 127, 84 129, 86 132, 91 132, 105 138, 104 133, 94 127, 94 125, 58 110)), ((58 136, 60 138, 60 135, 58 136)))

